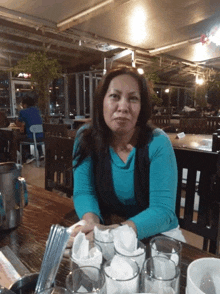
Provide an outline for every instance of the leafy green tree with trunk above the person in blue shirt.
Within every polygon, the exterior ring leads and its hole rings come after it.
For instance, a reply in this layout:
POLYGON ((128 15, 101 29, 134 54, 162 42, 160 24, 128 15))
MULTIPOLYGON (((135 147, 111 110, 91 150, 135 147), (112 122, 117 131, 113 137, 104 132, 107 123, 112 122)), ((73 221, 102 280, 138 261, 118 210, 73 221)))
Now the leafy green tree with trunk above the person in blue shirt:
POLYGON ((44 115, 49 114, 49 83, 61 76, 61 66, 57 59, 50 59, 45 52, 32 52, 20 59, 12 71, 15 74, 31 74, 31 82, 39 94, 38 106, 44 115))

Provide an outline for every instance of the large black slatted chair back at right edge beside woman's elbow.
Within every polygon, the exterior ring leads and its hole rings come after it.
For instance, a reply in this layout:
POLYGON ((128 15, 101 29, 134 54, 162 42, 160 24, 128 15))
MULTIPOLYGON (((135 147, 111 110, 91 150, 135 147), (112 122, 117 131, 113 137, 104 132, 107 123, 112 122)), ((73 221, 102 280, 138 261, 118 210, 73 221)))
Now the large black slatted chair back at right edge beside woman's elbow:
POLYGON ((220 239, 220 154, 174 149, 178 165, 176 214, 180 227, 204 238, 203 250, 218 254, 220 239), (186 182, 183 172, 187 169, 186 182), (185 205, 181 205, 185 200, 185 205), (198 208, 195 207, 198 201, 198 208))

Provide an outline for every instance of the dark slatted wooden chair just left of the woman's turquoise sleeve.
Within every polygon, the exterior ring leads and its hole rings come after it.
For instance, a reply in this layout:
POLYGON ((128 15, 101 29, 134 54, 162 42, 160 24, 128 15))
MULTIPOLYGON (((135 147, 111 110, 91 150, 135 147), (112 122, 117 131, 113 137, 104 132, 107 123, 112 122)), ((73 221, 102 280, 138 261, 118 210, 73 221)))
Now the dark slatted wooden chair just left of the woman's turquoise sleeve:
POLYGON ((72 153, 74 139, 48 137, 45 139, 45 189, 73 195, 72 153))

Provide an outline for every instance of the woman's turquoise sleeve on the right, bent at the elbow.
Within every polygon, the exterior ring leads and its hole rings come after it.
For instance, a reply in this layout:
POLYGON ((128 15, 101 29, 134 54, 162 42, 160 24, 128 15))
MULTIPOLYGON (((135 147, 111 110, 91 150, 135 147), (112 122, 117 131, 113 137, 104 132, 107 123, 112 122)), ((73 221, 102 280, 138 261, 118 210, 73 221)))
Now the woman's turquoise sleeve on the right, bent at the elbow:
POLYGON ((172 144, 166 134, 154 136, 149 144, 149 208, 130 218, 143 239, 166 232, 178 225, 175 215, 177 164, 172 144))

